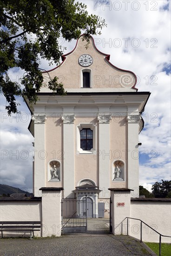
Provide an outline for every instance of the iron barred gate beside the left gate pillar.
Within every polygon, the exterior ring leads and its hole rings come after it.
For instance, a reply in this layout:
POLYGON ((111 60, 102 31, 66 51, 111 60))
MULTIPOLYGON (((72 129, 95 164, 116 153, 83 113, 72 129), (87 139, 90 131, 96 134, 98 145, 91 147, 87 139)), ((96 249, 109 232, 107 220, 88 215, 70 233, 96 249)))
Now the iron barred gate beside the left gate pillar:
POLYGON ((82 200, 62 199, 62 233, 87 231, 87 197, 82 200))

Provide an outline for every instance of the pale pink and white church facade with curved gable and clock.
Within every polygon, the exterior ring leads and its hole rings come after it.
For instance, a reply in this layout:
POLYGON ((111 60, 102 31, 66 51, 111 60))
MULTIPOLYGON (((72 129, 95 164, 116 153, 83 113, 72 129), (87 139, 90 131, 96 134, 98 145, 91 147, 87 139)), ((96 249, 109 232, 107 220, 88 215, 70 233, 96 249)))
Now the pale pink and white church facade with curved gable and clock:
POLYGON ((110 55, 100 52, 92 37, 88 48, 85 44, 80 37, 58 67, 43 72, 39 101, 28 104, 35 152, 33 193, 63 188, 63 197, 75 202, 87 196, 88 217, 100 216, 102 202, 109 217, 109 188, 132 189, 132 197, 139 195, 138 135, 150 93, 138 92, 136 75, 110 63, 110 55), (53 95, 47 87, 49 77, 55 76, 65 96, 53 95))

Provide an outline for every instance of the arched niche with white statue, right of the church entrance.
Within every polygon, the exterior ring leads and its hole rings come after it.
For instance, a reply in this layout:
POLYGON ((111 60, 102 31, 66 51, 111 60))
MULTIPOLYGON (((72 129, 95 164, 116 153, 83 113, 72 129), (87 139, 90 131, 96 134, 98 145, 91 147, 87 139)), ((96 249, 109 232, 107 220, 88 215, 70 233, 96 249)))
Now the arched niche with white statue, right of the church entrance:
POLYGON ((112 181, 125 181, 125 163, 122 160, 116 160, 112 163, 112 181))

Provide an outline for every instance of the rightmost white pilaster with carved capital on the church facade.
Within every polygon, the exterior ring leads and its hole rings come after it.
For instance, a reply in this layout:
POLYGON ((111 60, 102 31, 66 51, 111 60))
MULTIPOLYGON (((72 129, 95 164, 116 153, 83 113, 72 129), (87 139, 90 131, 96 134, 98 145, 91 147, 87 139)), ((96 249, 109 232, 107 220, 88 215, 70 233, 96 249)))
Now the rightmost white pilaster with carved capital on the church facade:
POLYGON ((132 197, 139 196, 139 151, 138 133, 140 115, 132 112, 127 116, 128 121, 128 183, 129 189, 133 189, 132 197))

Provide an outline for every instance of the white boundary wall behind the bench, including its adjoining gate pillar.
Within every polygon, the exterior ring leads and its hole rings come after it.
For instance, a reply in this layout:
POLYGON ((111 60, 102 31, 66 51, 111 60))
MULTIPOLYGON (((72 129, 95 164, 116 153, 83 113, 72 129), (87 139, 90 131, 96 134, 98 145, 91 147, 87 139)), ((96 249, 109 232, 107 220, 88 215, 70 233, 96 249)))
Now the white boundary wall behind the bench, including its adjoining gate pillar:
MULTIPOLYGON (((1 197, 0 221, 41 221, 35 236, 61 235, 61 199, 63 188, 41 188, 41 197, 1 197)), ((28 236, 29 233, 3 232, 4 236, 28 236)))

